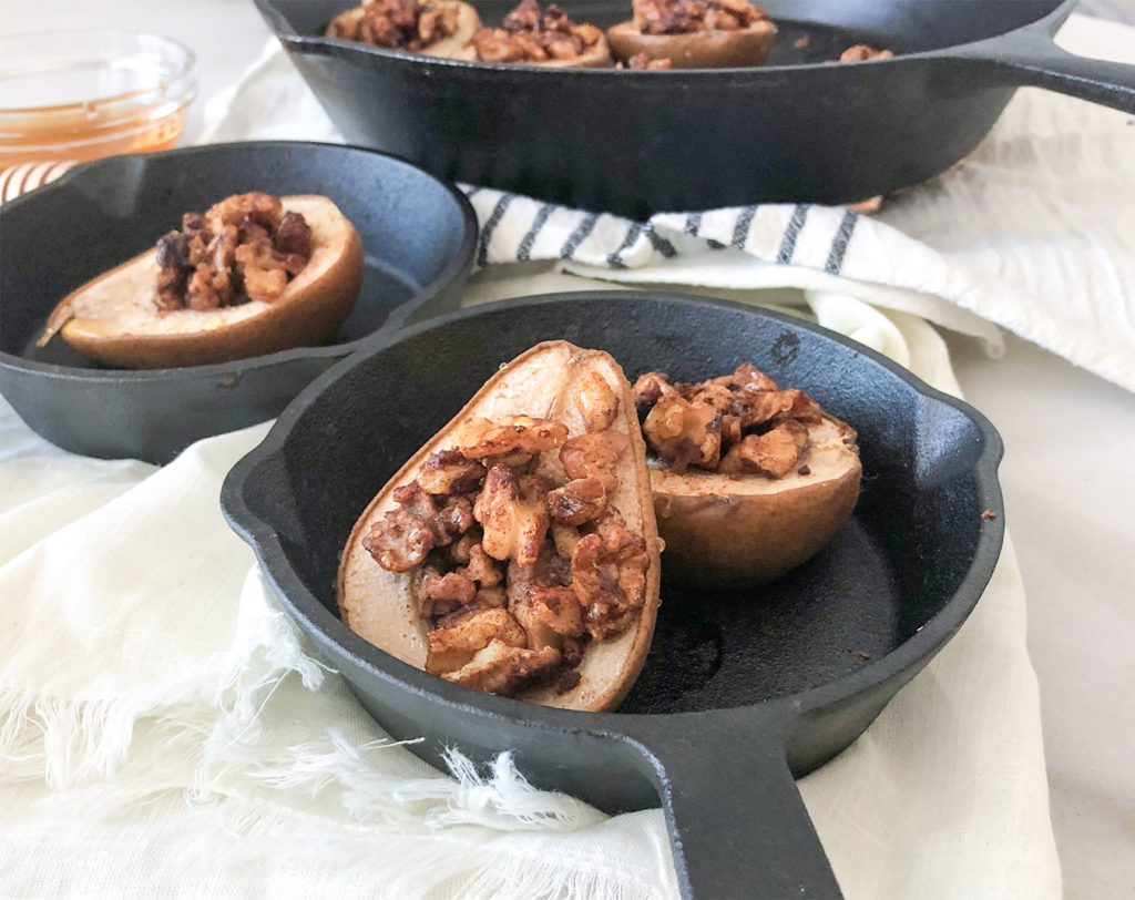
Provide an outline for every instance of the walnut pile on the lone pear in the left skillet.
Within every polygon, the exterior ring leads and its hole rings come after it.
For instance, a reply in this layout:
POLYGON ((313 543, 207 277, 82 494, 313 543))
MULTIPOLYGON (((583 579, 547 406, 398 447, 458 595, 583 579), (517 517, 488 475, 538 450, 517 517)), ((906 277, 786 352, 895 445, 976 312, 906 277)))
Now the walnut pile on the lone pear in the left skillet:
POLYGON ((279 197, 235 194, 203 216, 186 213, 182 230, 158 241, 159 310, 212 310, 250 300, 272 303, 311 256, 311 228, 279 197))

